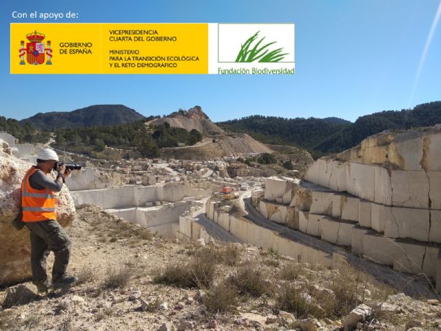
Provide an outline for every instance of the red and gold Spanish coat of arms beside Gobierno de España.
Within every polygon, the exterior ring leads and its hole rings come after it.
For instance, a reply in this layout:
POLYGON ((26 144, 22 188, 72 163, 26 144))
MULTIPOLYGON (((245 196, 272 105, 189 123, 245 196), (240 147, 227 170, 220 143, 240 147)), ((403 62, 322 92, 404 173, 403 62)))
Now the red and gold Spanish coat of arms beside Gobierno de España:
POLYGON ((28 43, 26 43, 25 48, 25 42, 22 40, 20 41, 20 65, 24 66, 25 63, 25 55, 26 55, 26 61, 28 61, 29 64, 32 65, 39 65, 43 64, 45 61, 45 55, 48 55, 48 59, 46 61, 46 64, 51 65, 52 64, 52 48, 50 48, 50 41, 48 40, 48 47, 45 48, 43 40, 45 39, 45 35, 37 32, 35 30, 34 32, 31 32, 29 34, 26 34, 26 39, 28 39, 28 43))

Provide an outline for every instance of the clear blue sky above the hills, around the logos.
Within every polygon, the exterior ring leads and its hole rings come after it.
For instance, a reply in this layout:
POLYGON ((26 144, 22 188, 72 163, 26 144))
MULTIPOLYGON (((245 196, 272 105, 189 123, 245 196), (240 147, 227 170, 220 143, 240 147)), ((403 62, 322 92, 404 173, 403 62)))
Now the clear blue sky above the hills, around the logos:
POLYGON ((440 7, 440 0, 2 0, 0 115, 118 103, 145 116, 198 105, 212 121, 252 114, 355 121, 413 108, 441 100, 441 24, 433 25, 440 7), (14 10, 71 10, 76 22, 95 23, 294 22, 296 74, 11 75, 9 24, 31 21, 12 19, 14 10))

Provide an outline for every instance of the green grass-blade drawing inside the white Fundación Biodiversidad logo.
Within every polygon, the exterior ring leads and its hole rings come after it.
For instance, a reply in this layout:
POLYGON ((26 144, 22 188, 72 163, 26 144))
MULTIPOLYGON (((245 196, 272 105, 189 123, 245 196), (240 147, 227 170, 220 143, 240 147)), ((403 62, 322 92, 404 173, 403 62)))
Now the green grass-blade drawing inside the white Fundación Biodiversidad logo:
POLYGON ((240 51, 236 57, 236 62, 278 62, 282 60, 285 55, 289 54, 280 54, 281 52, 283 52, 283 48, 277 48, 276 50, 269 51, 269 46, 271 46, 273 43, 276 43, 276 41, 272 41, 271 43, 267 43, 266 45, 258 48, 265 37, 261 38, 250 50, 249 48, 251 48, 252 43, 256 41, 259 32, 260 31, 253 34, 252 37, 249 37, 247 41, 245 41, 245 43, 240 46, 240 51))

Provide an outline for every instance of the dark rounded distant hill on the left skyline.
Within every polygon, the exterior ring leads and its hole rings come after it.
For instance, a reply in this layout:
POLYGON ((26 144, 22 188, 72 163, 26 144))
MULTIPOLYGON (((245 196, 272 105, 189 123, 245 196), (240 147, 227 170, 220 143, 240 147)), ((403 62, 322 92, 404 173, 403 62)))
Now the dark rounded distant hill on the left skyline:
POLYGON ((29 123, 41 130, 52 130, 82 126, 114 126, 140 119, 145 117, 123 105, 95 105, 72 112, 39 112, 28 119, 22 119, 20 123, 29 123))

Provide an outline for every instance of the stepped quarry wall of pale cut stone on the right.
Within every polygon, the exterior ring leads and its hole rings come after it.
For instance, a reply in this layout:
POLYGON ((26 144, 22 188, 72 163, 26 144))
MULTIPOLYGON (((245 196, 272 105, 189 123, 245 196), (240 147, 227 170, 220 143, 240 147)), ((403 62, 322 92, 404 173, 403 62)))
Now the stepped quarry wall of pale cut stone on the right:
POLYGON ((318 159, 305 179, 268 178, 253 203, 267 219, 424 273, 441 291, 441 127, 368 137, 318 159))

